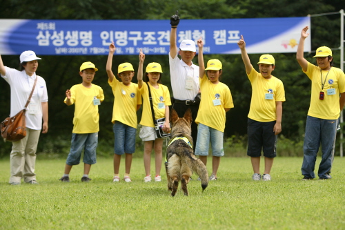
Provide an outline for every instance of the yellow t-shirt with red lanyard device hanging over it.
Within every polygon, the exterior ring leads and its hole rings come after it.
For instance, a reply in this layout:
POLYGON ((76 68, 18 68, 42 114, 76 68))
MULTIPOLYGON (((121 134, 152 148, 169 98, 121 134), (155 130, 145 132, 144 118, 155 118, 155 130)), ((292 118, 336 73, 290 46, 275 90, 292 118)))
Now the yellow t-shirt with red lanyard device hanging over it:
POLYGON ((332 67, 331 70, 322 70, 322 90, 321 73, 319 66, 315 66, 308 62, 306 75, 311 79, 311 104, 309 106, 308 115, 320 119, 337 119, 340 114, 339 93, 345 92, 345 75, 344 72, 332 67), (335 89, 335 90, 331 90, 335 89), (324 92, 324 99, 319 99, 320 92, 324 92))

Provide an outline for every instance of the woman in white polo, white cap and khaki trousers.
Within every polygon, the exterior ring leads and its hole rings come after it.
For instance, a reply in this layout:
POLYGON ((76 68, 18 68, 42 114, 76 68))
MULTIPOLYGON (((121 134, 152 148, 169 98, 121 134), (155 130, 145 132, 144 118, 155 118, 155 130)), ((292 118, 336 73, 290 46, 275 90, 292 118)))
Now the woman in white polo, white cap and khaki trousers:
POLYGON ((34 81, 37 84, 30 99, 30 104, 26 108, 26 137, 12 142, 10 154, 11 176, 10 184, 21 184, 24 182, 37 184, 34 164, 36 162, 36 150, 39 141, 39 134, 48 132, 48 93, 46 82, 42 77, 36 75, 38 61, 33 51, 24 51, 20 55, 21 70, 3 66, 0 55, 0 73, 11 88, 11 111, 10 116, 21 111, 28 101, 34 81), (43 119, 43 124, 42 124, 43 119))

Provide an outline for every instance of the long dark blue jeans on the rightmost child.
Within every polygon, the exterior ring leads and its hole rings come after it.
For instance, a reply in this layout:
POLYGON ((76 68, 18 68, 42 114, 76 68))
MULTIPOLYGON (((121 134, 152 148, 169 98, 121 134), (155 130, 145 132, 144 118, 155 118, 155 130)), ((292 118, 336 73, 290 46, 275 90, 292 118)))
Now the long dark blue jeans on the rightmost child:
POLYGON ((306 134, 304 136, 304 157, 302 175, 315 178, 315 162, 319 146, 322 146, 322 160, 319 165, 319 178, 328 179, 333 163, 333 148, 337 133, 337 119, 306 118, 306 134))

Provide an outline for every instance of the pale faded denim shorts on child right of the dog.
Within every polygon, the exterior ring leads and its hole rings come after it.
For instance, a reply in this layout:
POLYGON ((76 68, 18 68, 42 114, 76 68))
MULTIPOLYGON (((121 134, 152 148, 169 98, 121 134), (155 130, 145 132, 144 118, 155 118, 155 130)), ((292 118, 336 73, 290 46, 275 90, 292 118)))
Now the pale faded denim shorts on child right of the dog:
POLYGON ((223 138, 223 132, 199 123, 197 126, 197 146, 195 148, 195 155, 208 155, 208 148, 211 142, 212 155, 215 157, 224 156, 223 138))

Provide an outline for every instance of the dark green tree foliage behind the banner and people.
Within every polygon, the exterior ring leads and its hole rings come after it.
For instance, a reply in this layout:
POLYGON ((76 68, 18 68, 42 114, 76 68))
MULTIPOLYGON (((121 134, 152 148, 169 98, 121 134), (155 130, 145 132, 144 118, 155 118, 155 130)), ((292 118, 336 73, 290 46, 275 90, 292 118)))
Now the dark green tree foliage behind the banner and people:
MULTIPOLYGON (((179 10, 183 19, 228 19, 259 17, 311 17, 312 50, 319 46, 335 48, 333 57, 335 66, 339 67, 340 16, 339 14, 313 17, 326 12, 339 12, 345 8, 343 0, 5 0, 1 3, 2 19, 169 19, 179 10)), ((167 29, 170 25, 167 23, 167 29)), ((265 30, 262 25, 262 30, 265 30)), ((302 28, 301 28, 302 29, 302 28)), ((28 47, 30 50, 30 47, 28 47)), ((0 50, 1 53, 1 50, 0 50)), ((283 104, 282 136, 283 145, 300 146, 304 134, 304 122, 310 102, 311 82, 302 73, 295 53, 273 54, 276 66, 273 75, 282 79, 286 90, 286 102, 283 104), (285 141, 285 142, 284 142, 285 141), (291 144, 286 144, 291 143, 291 144)), ((259 54, 249 55, 253 63, 259 54)), ((49 132, 41 135, 39 153, 68 153, 72 131, 73 106, 63 104, 66 89, 81 83, 79 66, 84 61, 95 63, 99 71, 94 84, 101 86, 106 99, 99 107, 100 127, 99 150, 105 155, 112 153, 113 133, 110 119, 112 117, 113 95, 107 83, 106 55, 102 56, 41 56, 37 74, 46 79, 49 96, 49 132)), ((306 54, 306 59, 313 62, 313 53, 306 54)), ((3 63, 10 68, 19 67, 19 55, 2 56, 3 63)), ((228 142, 246 139, 246 119, 250 106, 251 88, 246 77, 244 64, 240 55, 206 55, 206 59, 217 58, 224 66, 222 82, 227 84, 233 95, 235 108, 227 113, 225 137, 228 142)), ((138 57, 116 56, 113 66, 128 61, 137 68, 138 57)), ((161 64, 164 75, 163 84, 170 87, 168 57, 148 55, 146 63, 157 61, 161 64)), ((256 68, 256 66, 254 66, 256 68)), ((133 82, 136 82, 134 79, 133 82)), ((10 111, 10 87, 0 80, 0 117, 8 116, 10 111)), ((171 92, 171 91, 170 91, 171 92)), ((140 117, 141 111, 138 112, 140 117)), ((339 142, 339 141, 338 141, 339 142)), ((236 144, 234 142, 232 144, 236 144)), ((140 147, 140 140, 137 142, 140 147)), ((339 143, 338 143, 339 144, 339 143)), ((244 143, 245 145, 245 143, 244 143)), ((231 144, 230 144, 231 146, 231 144)), ((0 142, 0 157, 8 155, 11 144, 0 142)), ((231 149, 230 149, 231 151, 231 149)), ((339 153, 338 153, 339 154, 339 153)))

